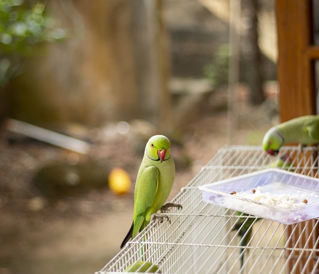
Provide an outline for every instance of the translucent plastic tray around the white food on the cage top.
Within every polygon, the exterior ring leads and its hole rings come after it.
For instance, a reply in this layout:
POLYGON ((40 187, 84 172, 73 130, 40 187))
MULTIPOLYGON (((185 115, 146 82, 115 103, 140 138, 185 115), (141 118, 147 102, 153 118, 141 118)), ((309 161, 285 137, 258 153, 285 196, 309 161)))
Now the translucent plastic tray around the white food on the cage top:
POLYGON ((200 186, 203 201, 291 225, 319 217, 319 179, 276 168, 252 172, 227 180, 200 186), (232 195, 233 191, 251 192, 260 187, 272 194, 300 195, 307 197, 307 204, 285 209, 232 195))

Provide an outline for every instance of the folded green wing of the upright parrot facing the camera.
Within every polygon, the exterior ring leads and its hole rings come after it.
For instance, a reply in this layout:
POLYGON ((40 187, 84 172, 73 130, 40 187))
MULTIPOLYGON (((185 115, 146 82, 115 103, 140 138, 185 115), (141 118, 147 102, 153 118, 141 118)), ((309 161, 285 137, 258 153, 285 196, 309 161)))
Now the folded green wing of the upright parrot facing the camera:
POLYGON ((149 208, 152 206, 159 184, 159 170, 155 166, 144 169, 138 178, 135 191, 134 228, 132 238, 143 229, 143 223, 149 208))

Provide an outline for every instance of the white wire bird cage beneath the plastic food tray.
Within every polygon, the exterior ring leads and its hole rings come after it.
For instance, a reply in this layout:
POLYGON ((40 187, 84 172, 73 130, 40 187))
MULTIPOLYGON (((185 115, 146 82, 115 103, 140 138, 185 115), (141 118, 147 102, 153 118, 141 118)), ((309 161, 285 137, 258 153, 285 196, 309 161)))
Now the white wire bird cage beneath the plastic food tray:
MULTIPOLYGON (((283 153, 289 153, 293 163, 281 168, 319 177, 317 147, 303 151, 284 147, 283 153)), ((152 221, 96 274, 121 273, 138 261, 151 262, 159 268, 156 273, 165 274, 319 273, 317 218, 283 225, 238 216, 233 210, 202 201, 198 186, 267 168, 274 159, 260 147, 220 149, 172 200, 182 210, 167 212, 169 221, 152 221), (254 220, 247 246, 241 246, 239 237, 244 226, 234 229, 242 220, 247 224, 254 220)))

